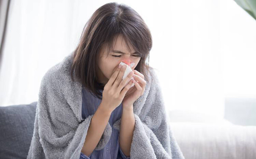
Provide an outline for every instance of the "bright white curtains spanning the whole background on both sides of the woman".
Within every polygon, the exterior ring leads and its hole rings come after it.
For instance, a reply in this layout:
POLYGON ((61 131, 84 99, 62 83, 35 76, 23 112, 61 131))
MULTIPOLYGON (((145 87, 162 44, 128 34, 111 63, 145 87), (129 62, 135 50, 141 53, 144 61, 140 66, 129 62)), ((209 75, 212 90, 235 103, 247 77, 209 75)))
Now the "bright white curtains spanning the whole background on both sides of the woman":
MULTIPOLYGON (((75 49, 87 20, 108 2, 12 0, 0 105, 37 101, 45 72, 75 49)), ((116 2, 135 9, 151 30, 149 63, 172 120, 222 119, 225 97, 256 97, 256 21, 233 0, 116 2)))

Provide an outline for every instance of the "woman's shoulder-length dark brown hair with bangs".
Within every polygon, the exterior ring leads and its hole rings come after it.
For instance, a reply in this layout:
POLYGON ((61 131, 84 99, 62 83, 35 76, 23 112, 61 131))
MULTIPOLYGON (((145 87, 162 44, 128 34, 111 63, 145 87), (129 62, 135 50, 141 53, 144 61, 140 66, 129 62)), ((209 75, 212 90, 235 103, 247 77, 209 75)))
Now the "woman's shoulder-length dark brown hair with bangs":
MULTIPOLYGON (((152 37, 148 26, 140 15, 125 4, 107 3, 97 9, 84 26, 80 42, 74 51, 71 65, 71 77, 73 74, 82 83, 83 87, 93 92, 102 99, 99 89, 104 89, 103 83, 99 83, 96 74, 97 61, 103 46, 108 48, 108 54, 113 49, 113 42, 121 34, 127 45, 140 54, 140 62, 134 68, 141 72, 148 82, 148 72, 151 68, 149 51, 152 48, 152 37)), ((151 73, 150 73, 151 74, 151 73)))

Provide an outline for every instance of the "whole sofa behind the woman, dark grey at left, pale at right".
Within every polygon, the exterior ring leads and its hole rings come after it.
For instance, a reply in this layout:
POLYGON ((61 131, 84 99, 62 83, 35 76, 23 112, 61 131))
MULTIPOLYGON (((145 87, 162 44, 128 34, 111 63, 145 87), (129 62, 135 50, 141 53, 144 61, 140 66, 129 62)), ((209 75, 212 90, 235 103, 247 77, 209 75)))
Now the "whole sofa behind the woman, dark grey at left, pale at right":
MULTIPOLYGON (((36 106, 37 102, 0 107, 0 159, 26 159, 36 106)), ((226 100, 225 118, 233 124, 171 111, 170 125, 185 158, 256 159, 255 106, 256 99, 226 100)))

